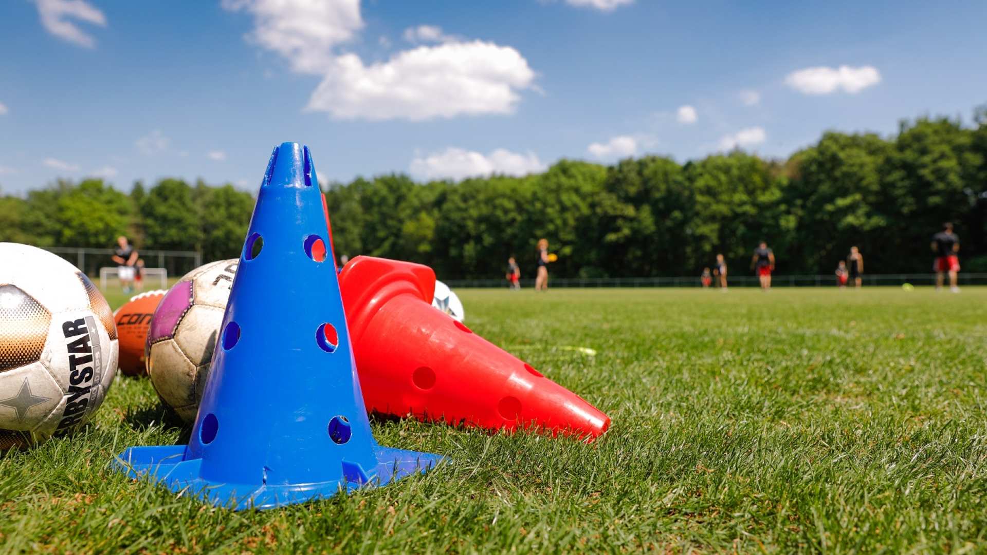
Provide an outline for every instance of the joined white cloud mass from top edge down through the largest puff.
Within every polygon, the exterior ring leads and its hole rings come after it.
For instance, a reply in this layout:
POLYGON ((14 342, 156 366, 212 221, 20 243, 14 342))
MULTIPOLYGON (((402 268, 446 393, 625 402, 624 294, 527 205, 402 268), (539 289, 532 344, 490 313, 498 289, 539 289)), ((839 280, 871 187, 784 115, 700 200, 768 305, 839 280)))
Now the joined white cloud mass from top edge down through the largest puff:
POLYGON ((306 106, 339 119, 411 119, 511 113, 535 72, 509 46, 464 41, 421 26, 419 41, 446 40, 365 64, 336 49, 363 28, 358 0, 223 0, 254 15, 250 39, 292 70, 323 77, 306 106), (422 30, 425 30, 422 32, 422 30))

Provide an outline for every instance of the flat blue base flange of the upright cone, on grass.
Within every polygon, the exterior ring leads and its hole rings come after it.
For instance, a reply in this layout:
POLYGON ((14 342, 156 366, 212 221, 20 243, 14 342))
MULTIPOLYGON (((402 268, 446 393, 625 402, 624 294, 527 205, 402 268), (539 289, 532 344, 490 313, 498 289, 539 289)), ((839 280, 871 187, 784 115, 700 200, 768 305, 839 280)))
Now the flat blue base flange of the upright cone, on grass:
POLYGON ((308 484, 229 484, 199 477, 200 458, 182 460, 186 446, 133 447, 120 453, 114 469, 132 478, 147 477, 180 494, 189 495, 215 507, 235 511, 274 509, 362 487, 379 487, 435 467, 443 457, 428 452, 405 451, 376 446, 377 466, 363 469, 359 464, 342 461, 343 478, 337 481, 308 484))

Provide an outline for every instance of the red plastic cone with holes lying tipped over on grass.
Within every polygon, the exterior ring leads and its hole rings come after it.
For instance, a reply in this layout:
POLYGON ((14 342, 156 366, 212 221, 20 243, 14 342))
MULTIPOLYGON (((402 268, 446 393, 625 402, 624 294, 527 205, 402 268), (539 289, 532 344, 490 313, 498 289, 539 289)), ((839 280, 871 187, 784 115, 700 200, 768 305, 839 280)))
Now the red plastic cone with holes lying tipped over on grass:
POLYGON ((431 268, 370 256, 340 274, 368 410, 491 430, 539 428, 595 439, 610 418, 461 322, 431 307, 431 268))

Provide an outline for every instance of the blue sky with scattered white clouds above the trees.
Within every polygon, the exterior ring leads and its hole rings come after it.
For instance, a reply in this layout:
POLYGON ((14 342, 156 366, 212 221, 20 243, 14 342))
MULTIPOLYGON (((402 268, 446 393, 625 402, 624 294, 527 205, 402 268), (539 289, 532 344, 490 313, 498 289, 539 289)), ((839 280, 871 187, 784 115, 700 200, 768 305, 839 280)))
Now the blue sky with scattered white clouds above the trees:
POLYGON ((984 2, 6 0, 0 191, 253 189, 282 141, 324 182, 784 157, 826 129, 968 120, 985 21, 984 2))

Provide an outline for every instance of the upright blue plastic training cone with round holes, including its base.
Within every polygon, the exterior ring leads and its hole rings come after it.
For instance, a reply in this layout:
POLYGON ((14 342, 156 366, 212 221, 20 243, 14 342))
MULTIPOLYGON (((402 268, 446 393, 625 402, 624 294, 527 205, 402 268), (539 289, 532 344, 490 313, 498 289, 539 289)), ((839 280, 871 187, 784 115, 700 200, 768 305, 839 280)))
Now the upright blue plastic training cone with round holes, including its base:
POLYGON ((237 510, 384 485, 440 455, 370 433, 308 147, 274 149, 188 446, 133 447, 116 467, 237 510))

